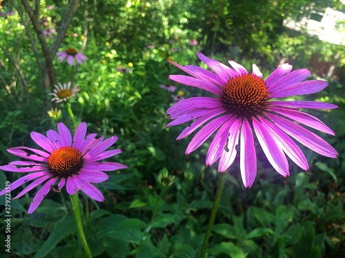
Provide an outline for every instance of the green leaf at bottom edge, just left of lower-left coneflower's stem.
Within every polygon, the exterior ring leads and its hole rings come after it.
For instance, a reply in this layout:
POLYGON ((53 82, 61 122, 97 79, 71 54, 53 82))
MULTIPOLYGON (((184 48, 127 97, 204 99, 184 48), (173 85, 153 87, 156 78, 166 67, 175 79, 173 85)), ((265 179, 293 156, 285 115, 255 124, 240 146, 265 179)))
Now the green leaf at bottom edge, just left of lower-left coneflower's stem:
POLYGON ((34 255, 35 258, 42 258, 46 257, 50 251, 52 251, 57 244, 63 239, 66 239, 69 235, 74 234, 77 231, 75 227, 75 218, 73 215, 68 215, 64 219, 61 219, 57 222, 54 230, 48 237, 46 241, 44 241, 43 246, 41 249, 34 255))

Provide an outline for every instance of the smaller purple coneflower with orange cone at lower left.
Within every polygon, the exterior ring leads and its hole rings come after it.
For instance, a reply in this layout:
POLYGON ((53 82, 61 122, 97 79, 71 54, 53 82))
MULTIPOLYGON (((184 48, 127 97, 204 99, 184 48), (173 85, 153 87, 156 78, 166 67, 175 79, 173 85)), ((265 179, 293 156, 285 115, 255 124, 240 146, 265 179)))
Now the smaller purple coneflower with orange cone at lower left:
MULTIPOLYGON (((57 125, 58 132, 49 130, 47 136, 35 131, 30 134, 32 140, 45 151, 28 147, 14 147, 7 150, 9 153, 26 160, 10 162, 0 166, 0 169, 14 173, 29 172, 28 175, 12 182, 11 191, 28 181, 34 180, 14 199, 23 196, 45 182, 34 195, 28 214, 36 210, 50 189, 61 191, 65 184, 67 193, 70 195, 81 190, 92 199, 103 202, 102 193, 91 183, 101 183, 108 180, 108 175, 103 171, 126 169, 127 166, 117 162, 99 162, 99 160, 121 153, 121 149, 106 151, 117 141, 118 137, 112 136, 104 140, 104 137, 101 136, 96 139, 97 133, 90 133, 86 136, 86 129, 86 122, 81 122, 72 140, 70 130, 62 122, 59 122, 57 125), (55 182, 59 182, 57 189, 54 188, 55 182)), ((5 193, 6 189, 3 189, 0 195, 5 193)))

